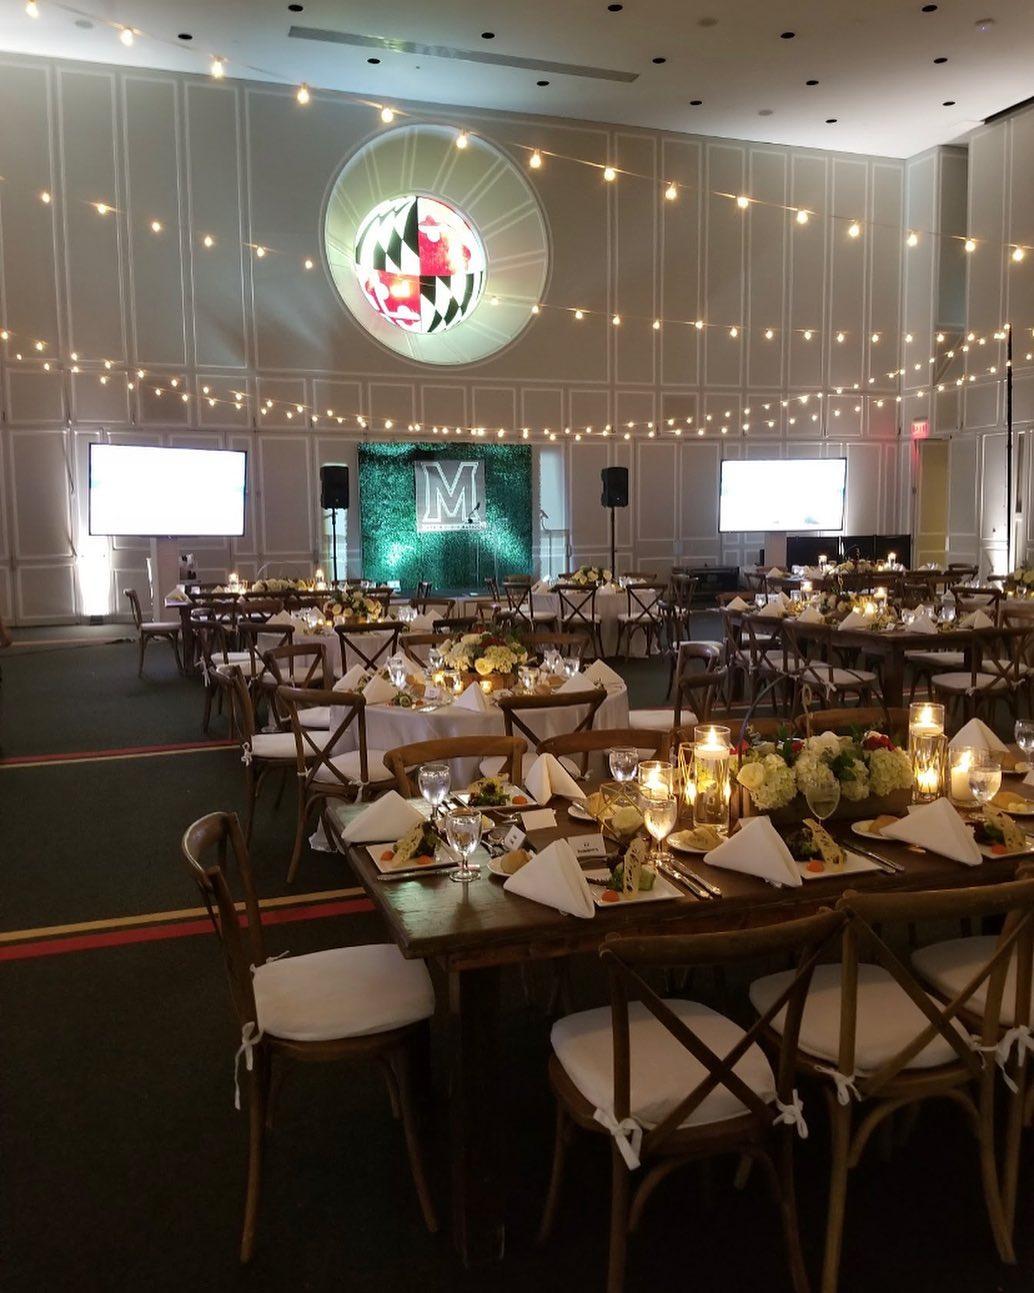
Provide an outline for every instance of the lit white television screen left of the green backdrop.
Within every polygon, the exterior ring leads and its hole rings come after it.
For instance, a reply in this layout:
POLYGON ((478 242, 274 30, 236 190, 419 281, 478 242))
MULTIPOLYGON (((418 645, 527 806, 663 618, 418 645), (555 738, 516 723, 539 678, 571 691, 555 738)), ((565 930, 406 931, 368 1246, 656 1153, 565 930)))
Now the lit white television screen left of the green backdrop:
POLYGON ((244 533, 248 455, 237 449, 89 446, 89 533, 244 533))

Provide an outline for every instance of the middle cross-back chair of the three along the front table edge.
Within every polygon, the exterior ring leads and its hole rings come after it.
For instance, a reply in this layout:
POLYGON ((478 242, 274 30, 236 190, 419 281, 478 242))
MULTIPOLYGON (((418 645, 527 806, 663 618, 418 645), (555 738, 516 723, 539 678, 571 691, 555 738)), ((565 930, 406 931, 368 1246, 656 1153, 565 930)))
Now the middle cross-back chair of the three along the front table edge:
MULTIPOLYGON (((995 1246, 1015 1262, 1012 1215, 1016 1157, 1022 1125, 1024 1045, 1002 1059, 1015 1091, 1007 1089, 1008 1137, 1000 1161, 995 1152, 995 1100, 1000 1081, 995 1063, 1002 1042, 1000 1014, 1011 961, 1013 1019, 1030 1018, 1034 878, 1002 884, 924 893, 852 893, 838 903, 847 917, 841 963, 816 971, 814 997, 804 1002, 797 1036, 797 1068, 822 1084, 832 1125, 822 1293, 838 1288, 848 1173, 870 1137, 897 1109, 927 1099, 949 1099, 967 1115, 980 1147, 981 1181, 995 1246), (885 941, 891 923, 1004 918, 1002 932, 978 958, 950 1001, 932 997, 914 970, 885 941), (866 959, 862 959, 865 954, 866 959), (980 1020, 971 1033, 965 1006, 984 989, 980 1020), (860 1118, 856 1121, 856 1106, 860 1118)), ((782 1027, 770 1006, 782 990, 785 971, 756 980, 750 989, 773 1037, 782 1027)), ((1004 1084, 1003 1084, 1004 1085, 1004 1084)))

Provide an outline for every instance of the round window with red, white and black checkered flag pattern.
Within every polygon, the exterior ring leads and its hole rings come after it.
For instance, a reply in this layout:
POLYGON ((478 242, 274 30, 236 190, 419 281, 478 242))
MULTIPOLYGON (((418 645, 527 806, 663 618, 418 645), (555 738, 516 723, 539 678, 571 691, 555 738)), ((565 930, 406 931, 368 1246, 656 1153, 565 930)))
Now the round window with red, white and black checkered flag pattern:
POLYGON ((407 332, 447 332, 485 291, 481 239, 439 198, 406 194, 377 203, 355 233, 354 264, 371 306, 407 332))

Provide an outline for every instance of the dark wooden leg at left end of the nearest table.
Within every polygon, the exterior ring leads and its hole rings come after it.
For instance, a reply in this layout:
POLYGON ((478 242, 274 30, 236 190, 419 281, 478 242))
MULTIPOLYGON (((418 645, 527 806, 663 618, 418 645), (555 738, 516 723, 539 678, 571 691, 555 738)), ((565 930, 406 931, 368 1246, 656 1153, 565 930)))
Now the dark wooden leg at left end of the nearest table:
POLYGON ((501 1261, 505 1249, 500 975, 487 966, 448 976, 452 1236, 467 1266, 501 1261))

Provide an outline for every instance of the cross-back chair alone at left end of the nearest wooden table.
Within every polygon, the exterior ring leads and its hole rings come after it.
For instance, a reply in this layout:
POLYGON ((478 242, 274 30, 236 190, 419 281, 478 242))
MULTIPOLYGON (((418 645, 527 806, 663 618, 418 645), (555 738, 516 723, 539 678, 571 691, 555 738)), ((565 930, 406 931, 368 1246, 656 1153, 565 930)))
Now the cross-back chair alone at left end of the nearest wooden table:
POLYGON ((184 833, 181 851, 222 946, 230 997, 240 1027, 235 1081, 243 1058, 248 1103, 240 1261, 249 1262, 255 1252, 265 1133, 273 1118, 273 1067, 288 1060, 364 1060, 379 1065, 392 1108, 405 1129, 410 1173, 424 1224, 436 1231, 438 1222, 424 1170, 412 1077, 414 1051, 423 1046, 427 1020, 434 1010, 434 989, 427 967, 423 962, 403 961, 390 945, 335 948, 268 961, 261 909, 237 815, 215 812, 193 822, 184 833), (247 923, 234 901, 234 888, 243 895, 247 923), (328 975, 332 978, 330 988, 328 975), (390 997, 403 999, 406 1006, 390 1018, 390 1009, 379 1006, 377 993, 362 992, 363 983, 376 983, 381 992, 390 984, 390 997), (306 1018, 310 1014, 306 988, 319 990, 323 1006, 321 1031, 324 1036, 317 1040, 310 1036, 311 1024, 306 1018))

